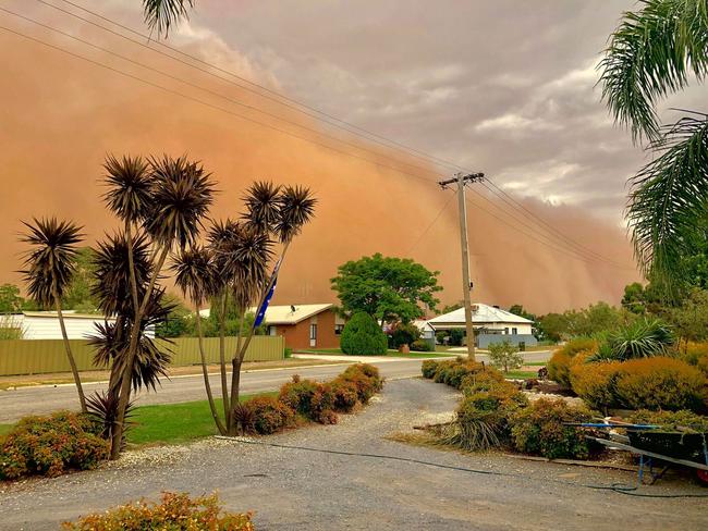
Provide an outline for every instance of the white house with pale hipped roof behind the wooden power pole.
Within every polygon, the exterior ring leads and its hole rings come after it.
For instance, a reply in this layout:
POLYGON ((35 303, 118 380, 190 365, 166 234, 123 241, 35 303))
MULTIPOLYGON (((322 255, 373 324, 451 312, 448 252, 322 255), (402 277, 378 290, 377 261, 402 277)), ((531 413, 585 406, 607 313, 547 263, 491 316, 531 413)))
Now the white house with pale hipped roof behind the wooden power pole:
MULTIPOLYGON (((460 329, 465 330, 465 309, 444 313, 428 321, 428 324, 438 332, 440 330, 460 329)), ((490 343, 498 343, 504 339, 510 343, 524 343, 526 346, 537 344, 534 337, 533 321, 515 316, 496 306, 480 302, 472 305, 472 325, 475 329, 475 343, 480 348, 487 347, 490 343)))

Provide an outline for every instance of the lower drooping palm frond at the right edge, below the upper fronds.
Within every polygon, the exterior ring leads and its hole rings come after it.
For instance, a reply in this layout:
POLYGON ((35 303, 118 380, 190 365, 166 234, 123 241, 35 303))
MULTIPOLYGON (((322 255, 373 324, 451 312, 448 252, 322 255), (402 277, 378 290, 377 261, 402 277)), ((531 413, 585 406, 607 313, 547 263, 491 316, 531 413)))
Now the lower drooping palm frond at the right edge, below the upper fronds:
POLYGON ((632 180, 627 219, 645 274, 670 285, 707 213, 708 115, 680 120, 651 147, 660 156, 632 180))

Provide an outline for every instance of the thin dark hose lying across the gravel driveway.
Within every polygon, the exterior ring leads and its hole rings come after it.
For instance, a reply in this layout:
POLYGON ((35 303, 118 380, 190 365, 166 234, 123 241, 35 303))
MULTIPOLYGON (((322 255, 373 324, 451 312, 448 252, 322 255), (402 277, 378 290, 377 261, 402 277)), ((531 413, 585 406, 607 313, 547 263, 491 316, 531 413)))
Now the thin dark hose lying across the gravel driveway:
MULTIPOLYGON (((231 437, 231 436, 225 436, 225 435, 215 435, 216 439, 222 440, 222 441, 233 441, 235 443, 241 443, 241 444, 252 444, 252 445, 258 445, 258 446, 271 446, 273 448, 281 448, 281 449, 296 449, 296 450, 303 450, 303 452, 315 452, 319 454, 331 454, 331 455, 339 455, 339 456, 346 456, 346 457, 367 457, 367 458, 373 458, 373 459, 384 459, 384 460, 390 460, 390 461, 402 461, 402 462, 410 462, 413 465, 424 465, 426 467, 434 467, 434 468, 441 468, 445 470, 454 470, 459 472, 467 472, 467 473, 474 473, 474 474, 480 474, 480 476, 497 476, 497 477, 502 477, 502 478, 514 478, 514 479, 524 479, 528 480, 529 478, 527 476, 521 474, 521 473, 511 473, 511 472, 498 472, 495 470, 480 470, 480 469, 475 469, 475 468, 466 468, 466 467, 457 467, 454 465, 443 465, 440 462, 435 462, 435 461, 425 461, 423 459, 415 459, 413 457, 400 457, 400 456, 390 456, 386 454, 368 454, 368 453, 362 453, 362 452, 346 452, 342 449, 329 449, 329 448, 314 448, 312 446, 300 446, 300 445, 294 445, 294 444, 279 444, 279 443, 268 443, 265 441, 254 441, 254 440, 248 440, 248 439, 243 439, 243 437, 231 437)), ((587 484, 587 483, 573 483, 572 481, 563 481, 563 480, 557 480, 553 478, 548 478, 545 479, 547 482, 551 483, 558 483, 561 485, 569 485, 569 486, 579 486, 583 489, 591 489, 596 491, 610 491, 610 492, 617 492, 619 494, 625 494, 630 496, 638 496, 638 497, 651 497, 651 498, 703 498, 703 497, 708 497, 708 494, 693 494, 693 493, 685 493, 685 494, 644 494, 644 493, 638 493, 636 491, 639 490, 639 484, 637 485, 623 485, 621 483, 613 483, 611 485, 594 485, 594 484, 587 484)))

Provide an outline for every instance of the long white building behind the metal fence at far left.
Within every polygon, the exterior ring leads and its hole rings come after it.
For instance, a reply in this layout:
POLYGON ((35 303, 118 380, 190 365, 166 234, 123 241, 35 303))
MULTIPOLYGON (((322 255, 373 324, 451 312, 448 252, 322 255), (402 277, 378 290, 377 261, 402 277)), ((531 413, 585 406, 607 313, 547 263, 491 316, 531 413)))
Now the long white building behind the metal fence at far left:
MULTIPOLYGON (((96 324, 103 322, 113 322, 114 318, 105 318, 103 316, 91 316, 85 313, 75 313, 66 310, 64 316, 64 326, 70 339, 86 339, 96 334, 96 324)), ((21 329, 23 339, 61 339, 61 326, 56 311, 25 311, 8 316, 3 322, 4 326, 21 329)), ((148 331, 148 335, 150 335, 148 331)))

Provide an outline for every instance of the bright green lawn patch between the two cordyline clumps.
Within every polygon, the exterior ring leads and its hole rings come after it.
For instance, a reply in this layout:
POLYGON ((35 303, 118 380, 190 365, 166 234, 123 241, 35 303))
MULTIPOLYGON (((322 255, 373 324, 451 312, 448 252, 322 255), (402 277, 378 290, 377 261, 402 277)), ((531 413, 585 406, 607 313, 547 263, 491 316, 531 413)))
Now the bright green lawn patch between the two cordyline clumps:
MULTIPOLYGON (((259 393, 258 396, 276 396, 277 392, 259 393)), ((242 395, 241 402, 256 395, 242 395)), ((217 410, 222 411, 221 400, 216 400, 217 410)), ((160 404, 135 408, 131 421, 135 425, 127 433, 129 443, 179 444, 195 439, 217 435, 207 400, 181 404, 160 404)))

